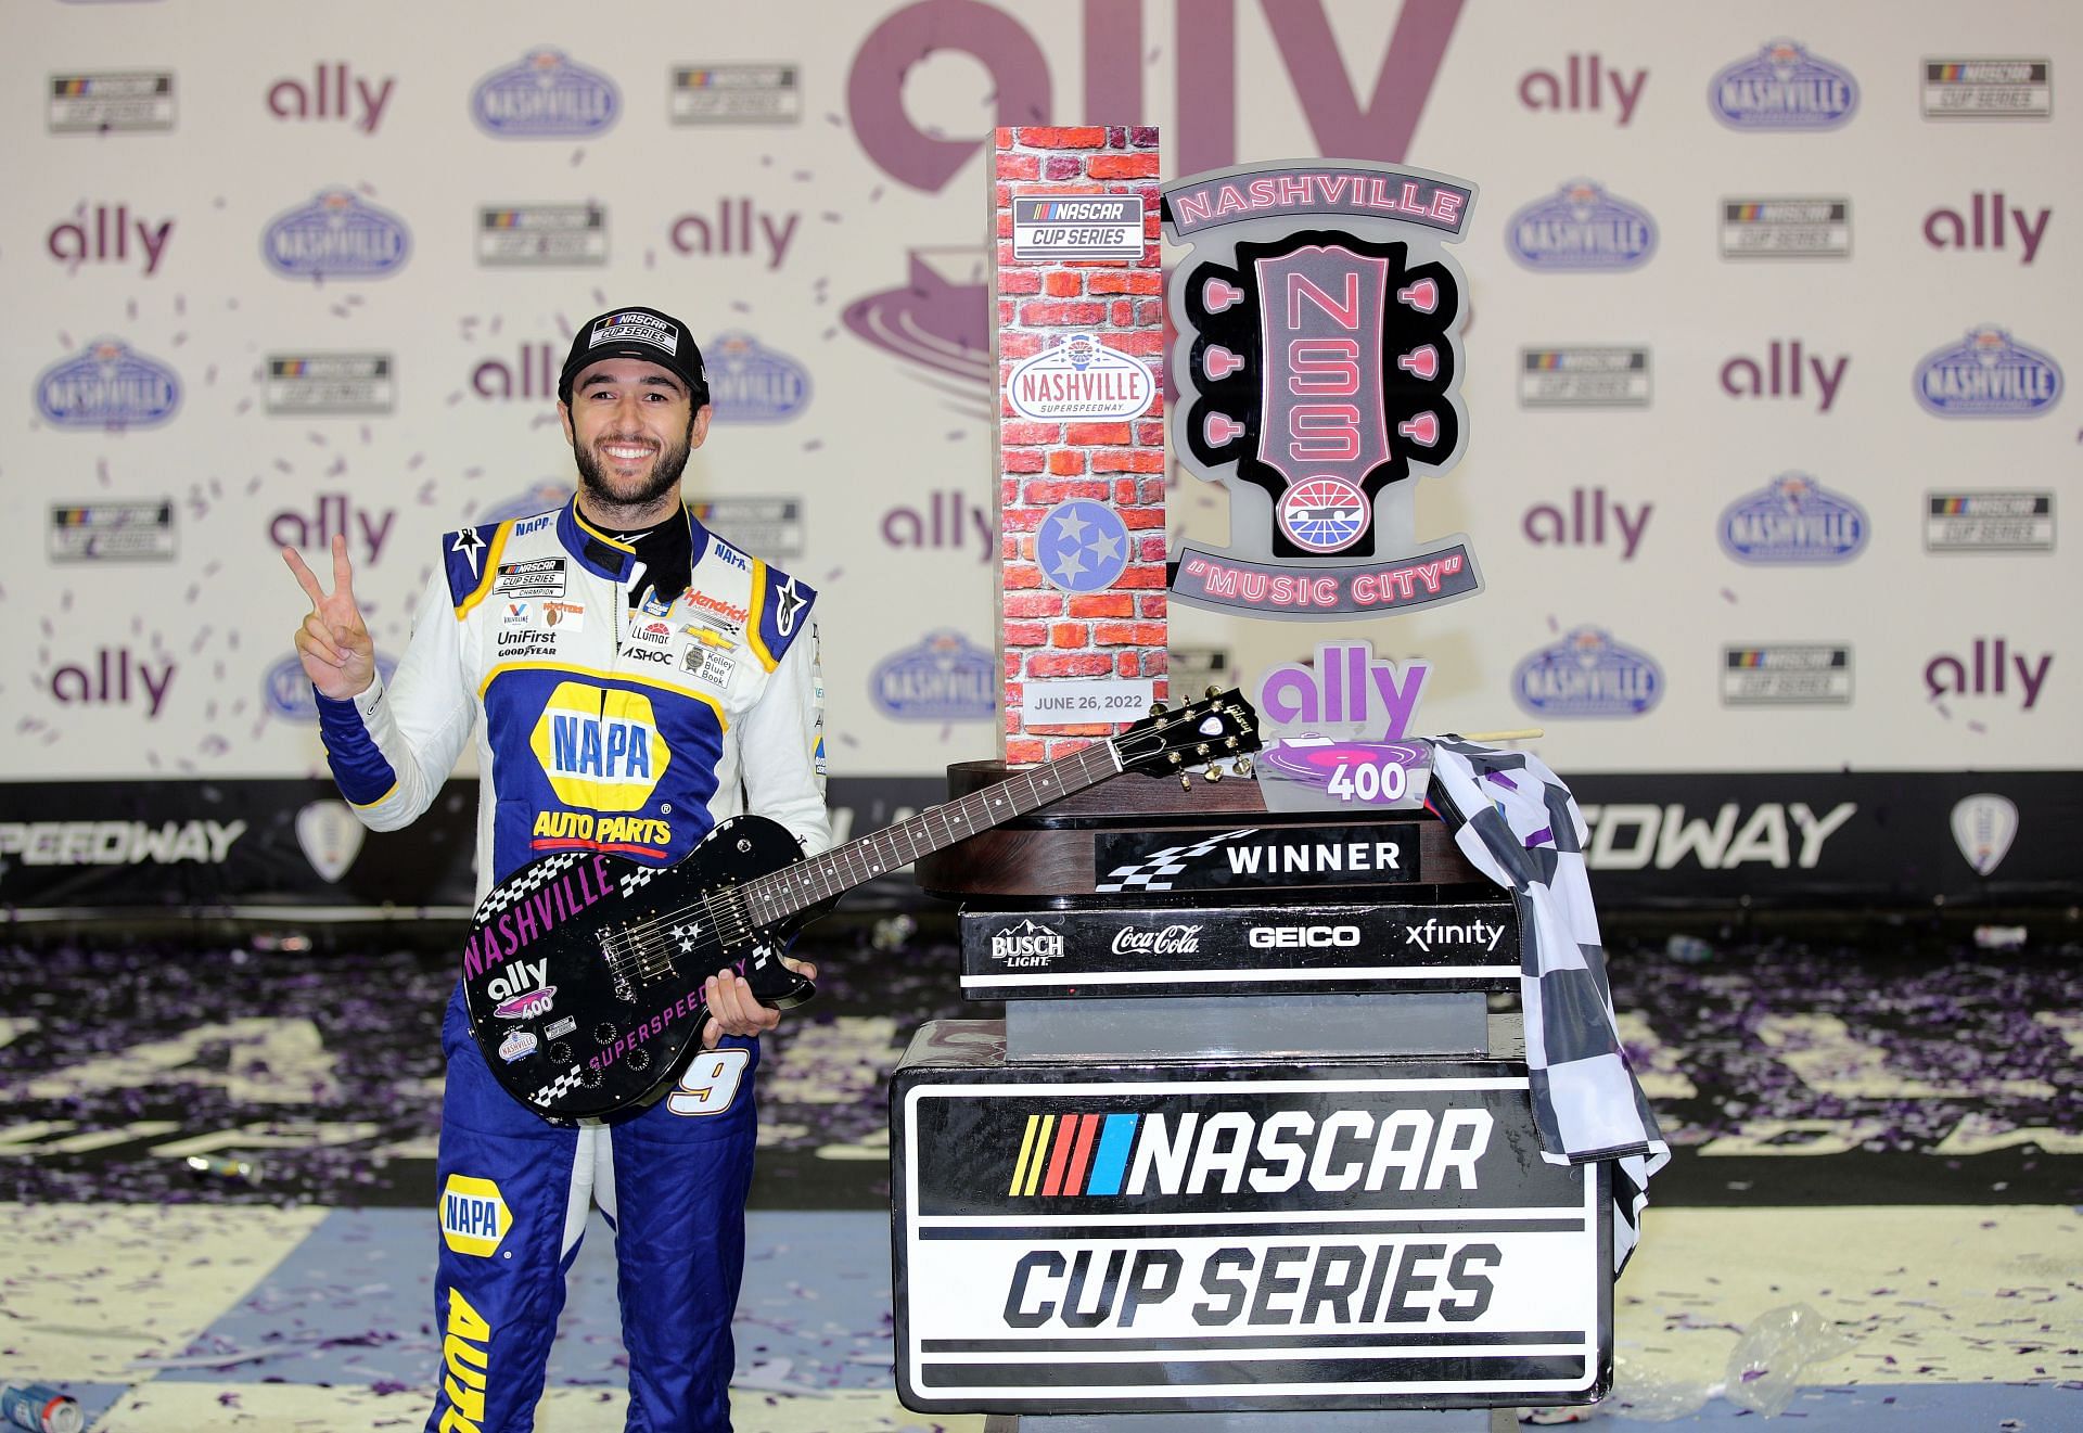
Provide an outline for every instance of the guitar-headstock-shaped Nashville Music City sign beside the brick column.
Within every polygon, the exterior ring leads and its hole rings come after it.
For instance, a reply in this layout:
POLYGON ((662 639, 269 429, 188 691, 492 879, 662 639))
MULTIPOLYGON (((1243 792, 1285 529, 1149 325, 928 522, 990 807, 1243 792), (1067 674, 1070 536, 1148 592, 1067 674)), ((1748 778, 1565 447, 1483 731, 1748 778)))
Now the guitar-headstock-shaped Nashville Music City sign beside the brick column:
POLYGON ((1171 592, 1271 619, 1385 617, 1483 589, 1469 539, 1421 544, 1412 481, 1466 446, 1460 267, 1475 187, 1289 160, 1169 185, 1191 246, 1166 304, 1173 450, 1229 489, 1229 548, 1185 544, 1171 592))

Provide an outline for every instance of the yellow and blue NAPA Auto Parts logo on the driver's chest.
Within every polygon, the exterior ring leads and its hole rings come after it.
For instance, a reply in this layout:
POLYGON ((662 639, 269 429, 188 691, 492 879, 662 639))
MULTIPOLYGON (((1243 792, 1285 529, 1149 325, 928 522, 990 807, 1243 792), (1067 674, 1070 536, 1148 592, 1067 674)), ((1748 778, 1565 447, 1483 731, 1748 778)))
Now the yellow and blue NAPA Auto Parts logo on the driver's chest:
POLYGON ((606 814, 650 804, 673 762, 650 698, 642 692, 560 681, 535 719, 529 750, 556 798, 577 808, 535 816, 537 850, 671 844, 673 827, 664 821, 606 814))

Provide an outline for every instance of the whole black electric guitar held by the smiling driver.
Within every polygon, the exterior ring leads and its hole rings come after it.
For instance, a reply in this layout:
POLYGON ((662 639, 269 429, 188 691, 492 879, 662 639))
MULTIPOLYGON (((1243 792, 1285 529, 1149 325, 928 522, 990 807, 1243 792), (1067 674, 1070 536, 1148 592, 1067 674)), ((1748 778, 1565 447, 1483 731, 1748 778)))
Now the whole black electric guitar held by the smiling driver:
POLYGON ((600 852, 544 856, 477 906, 462 952, 471 1035, 500 1085, 546 1118, 650 1104, 702 1048, 702 983, 735 966, 762 1004, 802 1004, 817 987, 781 954, 862 881, 1119 771, 1162 777, 1256 750, 1250 702, 1210 689, 823 856, 804 858, 767 816, 725 821, 673 866, 600 852))

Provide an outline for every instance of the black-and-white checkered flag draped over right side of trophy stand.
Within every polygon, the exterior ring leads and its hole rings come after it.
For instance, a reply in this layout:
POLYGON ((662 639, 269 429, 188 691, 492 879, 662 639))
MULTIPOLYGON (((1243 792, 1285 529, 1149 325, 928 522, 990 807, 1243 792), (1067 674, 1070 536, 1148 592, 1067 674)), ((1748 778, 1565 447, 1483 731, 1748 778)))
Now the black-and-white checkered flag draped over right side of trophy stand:
POLYGON ((1614 1162, 1612 1271, 1621 1273, 1641 1239, 1650 1175, 1671 1162, 1671 1146, 1621 1048, 1583 864, 1583 812, 1537 756, 1456 737, 1431 746, 1429 804, 1519 908, 1519 1002, 1541 1158, 1614 1162))

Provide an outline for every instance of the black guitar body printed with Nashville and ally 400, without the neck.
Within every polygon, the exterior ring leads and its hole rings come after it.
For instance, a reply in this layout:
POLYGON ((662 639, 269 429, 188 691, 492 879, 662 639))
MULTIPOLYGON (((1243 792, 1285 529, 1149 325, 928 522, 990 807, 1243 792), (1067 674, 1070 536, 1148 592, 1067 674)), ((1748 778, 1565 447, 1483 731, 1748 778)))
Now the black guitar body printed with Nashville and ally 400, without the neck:
POLYGON ((760 927, 737 894, 800 860, 781 823, 733 816, 673 866, 558 852, 494 885, 462 952, 492 1075, 544 1118, 602 1118, 671 1089, 702 1048, 717 971, 737 966, 775 1008, 808 1000, 781 954, 829 902, 760 927))

